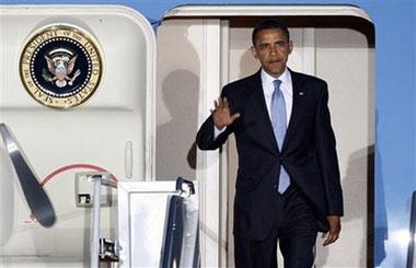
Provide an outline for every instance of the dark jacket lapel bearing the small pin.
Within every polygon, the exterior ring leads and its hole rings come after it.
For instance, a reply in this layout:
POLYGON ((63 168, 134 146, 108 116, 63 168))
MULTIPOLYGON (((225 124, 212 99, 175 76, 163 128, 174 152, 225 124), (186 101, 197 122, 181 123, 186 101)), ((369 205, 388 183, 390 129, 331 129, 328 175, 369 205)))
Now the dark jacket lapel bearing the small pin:
POLYGON ((301 80, 296 72, 293 72, 291 70, 289 70, 289 71, 290 71, 290 75, 291 75, 291 80, 292 80, 292 89, 293 89, 293 93, 292 93, 293 98, 292 100, 293 100, 293 102, 292 102, 292 110, 291 110, 291 115, 290 115, 288 129, 286 130, 282 151, 286 150, 286 148, 288 147, 288 143, 289 143, 290 139, 293 137, 293 135, 296 132, 296 128, 299 125, 299 120, 301 118, 302 96, 304 94, 304 92, 302 90, 303 80, 301 80))

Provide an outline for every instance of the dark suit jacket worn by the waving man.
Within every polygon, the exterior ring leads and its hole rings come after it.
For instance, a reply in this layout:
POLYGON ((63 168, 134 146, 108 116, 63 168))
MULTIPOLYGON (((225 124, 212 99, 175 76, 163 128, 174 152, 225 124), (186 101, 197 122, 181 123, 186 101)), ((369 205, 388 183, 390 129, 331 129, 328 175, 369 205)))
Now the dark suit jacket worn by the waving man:
POLYGON ((213 140, 210 116, 197 133, 201 150, 219 148, 235 135, 239 170, 234 200, 234 234, 251 240, 265 238, 276 217, 276 178, 282 164, 291 183, 307 197, 321 231, 326 215, 343 215, 343 195, 335 137, 327 108, 325 81, 290 71, 293 104, 282 149, 278 150, 267 113, 261 72, 222 89, 231 113, 241 117, 213 140))

